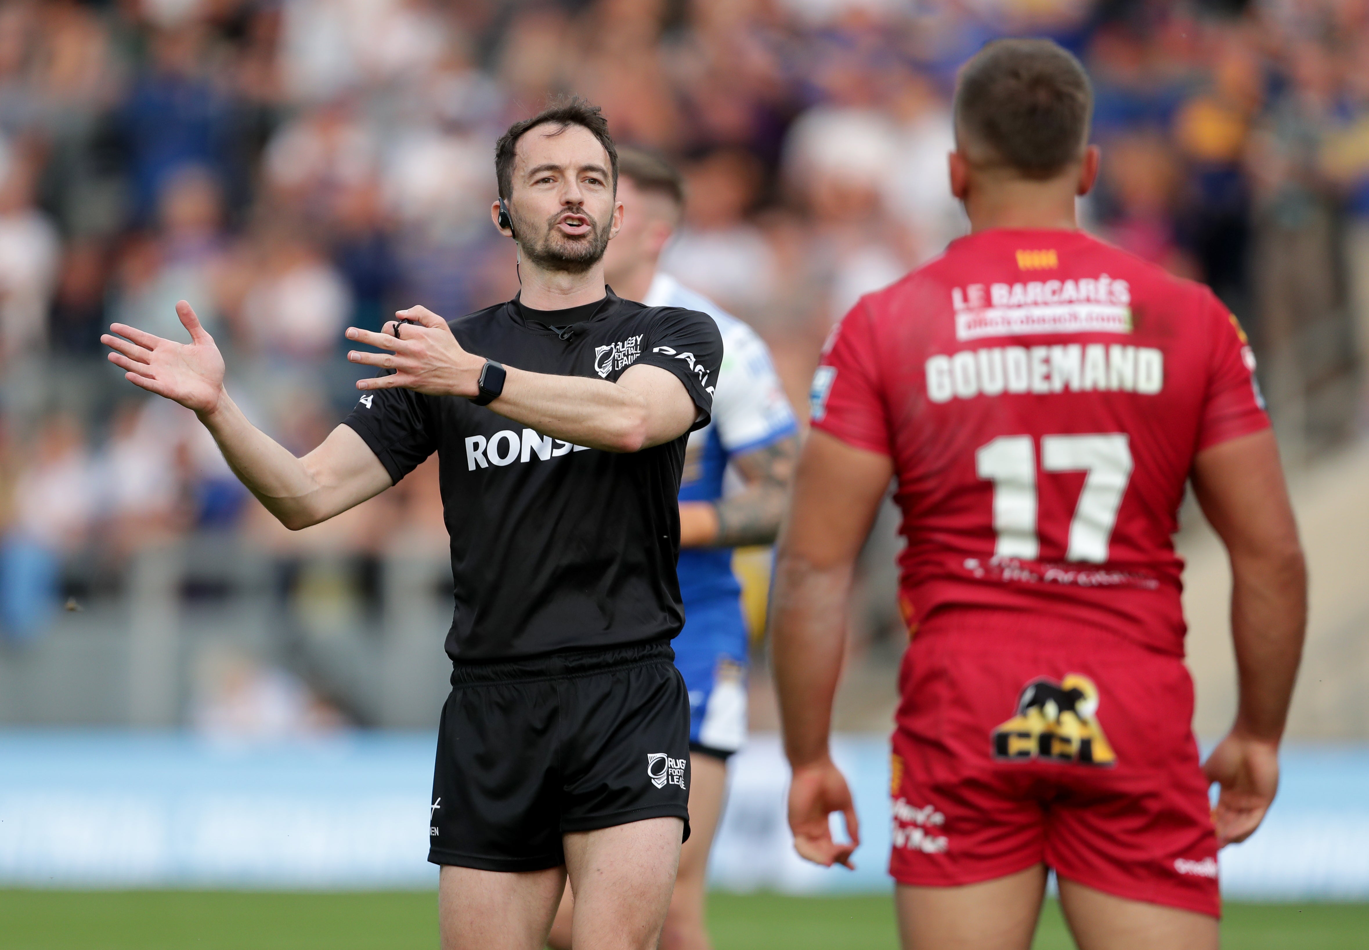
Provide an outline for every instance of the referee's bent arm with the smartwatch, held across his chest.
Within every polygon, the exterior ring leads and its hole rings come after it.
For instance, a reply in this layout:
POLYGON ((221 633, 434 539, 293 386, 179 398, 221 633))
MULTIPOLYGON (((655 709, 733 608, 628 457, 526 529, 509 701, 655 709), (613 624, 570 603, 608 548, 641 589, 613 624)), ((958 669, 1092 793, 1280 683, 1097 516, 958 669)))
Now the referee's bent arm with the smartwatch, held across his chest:
MULTIPOLYGON (((398 324, 398 337, 350 327, 348 339, 389 350, 353 350, 353 363, 394 370, 361 379, 357 389, 404 387, 433 396, 479 394, 485 357, 467 353, 446 320, 426 307, 400 311, 419 326, 398 324)), ((505 367, 504 391, 490 409, 543 435, 605 452, 638 452, 679 438, 698 408, 679 378, 660 367, 630 367, 617 382, 528 372, 505 367)))

